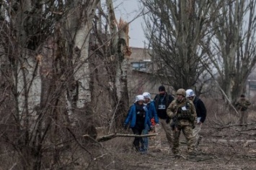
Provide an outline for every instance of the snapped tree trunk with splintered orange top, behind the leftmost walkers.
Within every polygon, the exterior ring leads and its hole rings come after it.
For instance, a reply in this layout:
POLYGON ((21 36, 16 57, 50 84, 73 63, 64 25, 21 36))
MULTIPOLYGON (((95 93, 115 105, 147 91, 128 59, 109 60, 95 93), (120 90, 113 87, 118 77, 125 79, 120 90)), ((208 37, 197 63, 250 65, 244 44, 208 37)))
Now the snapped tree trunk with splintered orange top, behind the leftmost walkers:
POLYGON ((123 115, 128 110, 128 87, 127 70, 128 59, 131 55, 131 49, 128 41, 129 27, 126 22, 120 19, 118 23, 115 19, 112 0, 107 0, 107 11, 110 22, 111 55, 115 58, 115 82, 112 85, 112 109, 113 115, 110 122, 110 130, 115 131, 115 127, 120 127, 123 122, 123 115))

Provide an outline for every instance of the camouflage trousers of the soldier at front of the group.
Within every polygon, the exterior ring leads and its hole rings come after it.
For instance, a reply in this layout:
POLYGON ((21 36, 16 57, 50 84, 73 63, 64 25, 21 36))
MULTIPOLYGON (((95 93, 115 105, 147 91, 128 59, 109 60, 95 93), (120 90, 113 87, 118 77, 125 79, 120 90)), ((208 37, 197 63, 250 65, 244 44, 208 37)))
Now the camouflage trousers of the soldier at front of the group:
POLYGON ((187 140, 188 153, 193 152, 195 148, 195 143, 193 143, 193 128, 191 126, 181 126, 174 131, 172 153, 177 154, 179 152, 181 131, 187 140))

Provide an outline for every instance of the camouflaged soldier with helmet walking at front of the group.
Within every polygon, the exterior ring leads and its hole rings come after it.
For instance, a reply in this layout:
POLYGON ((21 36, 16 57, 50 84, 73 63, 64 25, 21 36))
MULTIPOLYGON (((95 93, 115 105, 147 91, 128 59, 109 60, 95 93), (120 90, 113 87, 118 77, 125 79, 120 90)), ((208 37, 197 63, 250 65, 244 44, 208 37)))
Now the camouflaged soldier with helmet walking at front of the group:
POLYGON ((185 89, 179 89, 176 93, 177 98, 167 108, 167 115, 175 121, 174 141, 172 153, 178 154, 180 131, 187 140, 188 154, 194 154, 193 128, 195 128, 195 106, 192 101, 185 98, 185 89))

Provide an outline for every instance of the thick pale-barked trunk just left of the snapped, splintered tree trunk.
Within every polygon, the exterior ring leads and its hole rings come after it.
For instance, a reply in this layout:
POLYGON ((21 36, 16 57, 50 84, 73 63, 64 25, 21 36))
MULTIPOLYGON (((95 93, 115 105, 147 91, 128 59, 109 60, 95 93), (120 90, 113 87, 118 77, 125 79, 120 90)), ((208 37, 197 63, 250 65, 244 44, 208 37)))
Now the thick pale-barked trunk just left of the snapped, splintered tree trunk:
MULTIPOLYGON (((74 72, 70 72, 73 78, 71 89, 67 91, 67 107, 69 112, 75 108, 84 108, 85 103, 90 103, 91 92, 89 90, 89 34, 92 30, 92 19, 100 0, 95 1, 75 1, 74 8, 71 9, 70 15, 66 22, 66 33, 71 34, 68 37, 66 47, 69 47, 68 55, 73 56, 70 61, 74 72), (87 10, 84 9, 87 5, 87 10), (74 44, 72 44, 74 42, 74 44)), ((70 78, 69 78, 70 79, 70 78)), ((70 115, 72 113, 69 113, 70 115)))

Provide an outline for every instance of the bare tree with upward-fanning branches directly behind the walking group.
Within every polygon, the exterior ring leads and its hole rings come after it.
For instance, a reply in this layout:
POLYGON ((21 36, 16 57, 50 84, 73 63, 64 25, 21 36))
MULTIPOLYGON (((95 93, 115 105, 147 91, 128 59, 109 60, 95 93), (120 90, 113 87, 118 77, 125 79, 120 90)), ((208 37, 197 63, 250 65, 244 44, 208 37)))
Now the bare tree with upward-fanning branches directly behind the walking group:
POLYGON ((213 1, 141 2, 148 10, 145 31, 159 68, 156 77, 163 77, 176 90, 195 86, 206 74, 200 62, 207 62, 206 51, 200 42, 209 32, 213 1))

